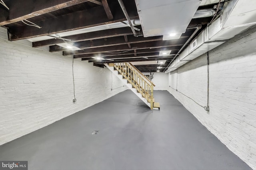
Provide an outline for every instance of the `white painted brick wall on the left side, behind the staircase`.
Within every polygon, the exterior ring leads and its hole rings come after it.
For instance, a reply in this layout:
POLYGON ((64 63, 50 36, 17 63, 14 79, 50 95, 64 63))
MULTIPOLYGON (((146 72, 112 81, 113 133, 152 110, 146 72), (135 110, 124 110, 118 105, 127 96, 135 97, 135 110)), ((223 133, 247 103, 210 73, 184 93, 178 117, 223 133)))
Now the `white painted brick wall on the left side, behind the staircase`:
POLYGON ((24 40, 10 42, 6 37, 1 28, 0 145, 127 89, 116 76, 111 77, 108 68, 75 60, 77 102, 73 103, 71 57, 32 48, 24 40))

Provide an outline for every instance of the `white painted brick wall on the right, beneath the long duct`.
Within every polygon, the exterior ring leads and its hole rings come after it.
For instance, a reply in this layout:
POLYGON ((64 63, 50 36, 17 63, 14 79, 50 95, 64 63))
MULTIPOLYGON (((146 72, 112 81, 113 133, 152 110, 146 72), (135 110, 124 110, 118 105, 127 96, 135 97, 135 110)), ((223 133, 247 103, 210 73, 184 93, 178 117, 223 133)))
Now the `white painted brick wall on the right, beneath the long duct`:
POLYGON ((209 112, 199 106, 207 104, 206 54, 168 74, 169 92, 253 169, 256 169, 255 44, 256 28, 209 52, 209 112))

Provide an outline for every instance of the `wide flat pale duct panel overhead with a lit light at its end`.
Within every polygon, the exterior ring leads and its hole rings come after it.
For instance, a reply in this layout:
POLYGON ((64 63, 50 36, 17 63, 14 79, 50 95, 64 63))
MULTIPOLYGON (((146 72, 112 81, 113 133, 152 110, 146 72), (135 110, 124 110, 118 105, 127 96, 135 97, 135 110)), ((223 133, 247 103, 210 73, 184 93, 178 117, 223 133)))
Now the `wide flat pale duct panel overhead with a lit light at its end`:
POLYGON ((144 37, 164 35, 179 39, 200 5, 200 0, 135 0, 144 37))

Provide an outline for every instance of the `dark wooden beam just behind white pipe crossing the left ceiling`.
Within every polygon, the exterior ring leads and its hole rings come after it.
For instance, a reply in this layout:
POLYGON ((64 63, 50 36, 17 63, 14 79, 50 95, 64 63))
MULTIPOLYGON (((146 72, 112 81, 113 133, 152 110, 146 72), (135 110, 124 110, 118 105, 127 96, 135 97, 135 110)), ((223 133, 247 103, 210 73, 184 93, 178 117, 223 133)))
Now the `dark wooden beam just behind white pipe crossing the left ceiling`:
MULTIPOLYGON (((71 39, 71 43, 79 41, 89 41, 94 39, 104 39, 109 37, 118 37, 123 35, 133 35, 130 27, 106 29, 102 31, 95 31, 90 33, 82 33, 78 35, 70 35, 62 38, 71 39)), ((43 41, 36 41, 32 43, 32 47, 43 47, 48 45, 55 45, 58 43, 63 43, 62 39, 48 39, 43 41)))

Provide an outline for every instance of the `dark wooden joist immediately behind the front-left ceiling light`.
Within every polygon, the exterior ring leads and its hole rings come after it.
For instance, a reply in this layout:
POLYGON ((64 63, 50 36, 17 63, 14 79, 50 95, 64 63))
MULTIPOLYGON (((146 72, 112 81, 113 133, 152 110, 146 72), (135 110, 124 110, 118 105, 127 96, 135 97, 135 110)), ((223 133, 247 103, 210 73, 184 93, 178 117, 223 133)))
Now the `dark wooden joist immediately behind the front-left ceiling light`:
POLYGON ((147 42, 147 43, 138 43, 135 44, 132 49, 129 49, 127 45, 116 45, 110 47, 99 47, 99 48, 91 48, 86 50, 79 51, 63 51, 63 55, 77 55, 77 54, 89 54, 89 53, 104 53, 104 52, 124 52, 124 51, 133 51, 134 49, 154 49, 154 48, 162 48, 162 47, 172 47, 171 50, 180 49, 184 43, 180 44, 172 44, 166 41, 155 41, 155 42, 147 42))

